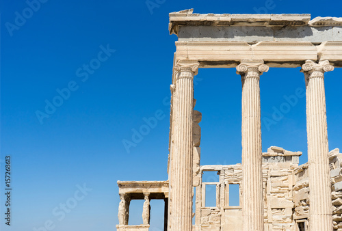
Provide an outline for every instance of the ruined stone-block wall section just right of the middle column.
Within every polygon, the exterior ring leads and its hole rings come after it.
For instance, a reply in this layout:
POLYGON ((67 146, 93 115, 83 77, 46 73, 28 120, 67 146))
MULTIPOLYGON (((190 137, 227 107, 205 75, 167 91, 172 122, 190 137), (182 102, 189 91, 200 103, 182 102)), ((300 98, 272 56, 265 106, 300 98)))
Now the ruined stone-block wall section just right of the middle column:
POLYGON ((295 230, 293 170, 302 152, 270 147, 263 153, 264 223, 268 230, 295 230))

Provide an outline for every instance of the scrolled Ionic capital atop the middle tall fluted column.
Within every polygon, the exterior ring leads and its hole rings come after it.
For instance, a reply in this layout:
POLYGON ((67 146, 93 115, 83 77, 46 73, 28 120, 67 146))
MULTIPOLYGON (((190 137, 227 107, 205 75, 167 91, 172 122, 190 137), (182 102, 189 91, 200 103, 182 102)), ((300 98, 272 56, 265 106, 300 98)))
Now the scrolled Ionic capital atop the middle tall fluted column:
POLYGON ((263 63, 262 59, 242 59, 236 67, 237 74, 242 77, 259 77, 263 72, 267 72, 269 66, 263 63))

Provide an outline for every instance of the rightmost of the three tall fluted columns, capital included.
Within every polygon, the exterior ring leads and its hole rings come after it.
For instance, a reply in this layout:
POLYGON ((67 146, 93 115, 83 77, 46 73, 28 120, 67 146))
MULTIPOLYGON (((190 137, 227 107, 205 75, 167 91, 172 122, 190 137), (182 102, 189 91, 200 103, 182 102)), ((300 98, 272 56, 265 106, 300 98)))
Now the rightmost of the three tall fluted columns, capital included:
POLYGON ((326 124, 324 72, 334 67, 327 60, 307 60, 302 66, 306 82, 306 128, 310 186, 310 230, 332 230, 332 202, 326 124))

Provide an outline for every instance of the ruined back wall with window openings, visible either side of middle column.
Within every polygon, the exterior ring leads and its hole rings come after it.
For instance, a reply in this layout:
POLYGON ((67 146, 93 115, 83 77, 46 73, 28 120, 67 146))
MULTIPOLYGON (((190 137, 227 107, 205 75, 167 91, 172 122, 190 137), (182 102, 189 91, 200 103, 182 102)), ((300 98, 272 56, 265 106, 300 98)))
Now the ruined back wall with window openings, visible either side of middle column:
MULTIPOLYGON (((301 152, 289 152, 283 148, 271 147, 263 153, 263 194, 265 231, 295 231, 293 220, 293 180, 298 168, 301 152)), ((229 203, 229 185, 242 183, 242 166, 204 165, 205 171, 217 171, 220 180, 216 182, 216 206, 205 207, 205 187, 212 182, 200 182, 196 187, 195 230, 241 230, 243 189, 239 189, 239 206, 229 203)))

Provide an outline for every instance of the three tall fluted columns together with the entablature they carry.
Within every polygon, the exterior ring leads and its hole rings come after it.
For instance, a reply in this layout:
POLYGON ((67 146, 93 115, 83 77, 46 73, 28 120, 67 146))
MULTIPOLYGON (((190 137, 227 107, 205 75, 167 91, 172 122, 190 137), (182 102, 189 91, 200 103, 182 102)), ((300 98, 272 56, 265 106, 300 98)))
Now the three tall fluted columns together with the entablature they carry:
POLYGON ((169 29, 179 39, 171 87, 168 230, 192 230, 193 81, 198 68, 236 68, 241 75, 243 230, 250 231, 264 229, 260 76, 272 74, 269 68, 299 66, 306 80, 310 230, 332 230, 324 73, 342 67, 341 18, 185 10, 170 14, 169 29))

